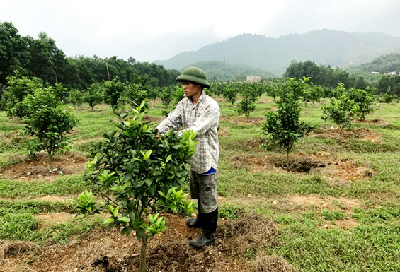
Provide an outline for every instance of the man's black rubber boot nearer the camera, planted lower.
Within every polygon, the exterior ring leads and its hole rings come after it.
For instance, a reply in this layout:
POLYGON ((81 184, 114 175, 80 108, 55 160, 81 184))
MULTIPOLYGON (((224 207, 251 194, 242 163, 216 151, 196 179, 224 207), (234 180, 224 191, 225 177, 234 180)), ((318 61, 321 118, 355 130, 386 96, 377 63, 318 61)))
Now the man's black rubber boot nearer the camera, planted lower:
POLYGON ((204 224, 202 235, 196 240, 190 241, 189 244, 195 249, 201 249, 202 247, 214 244, 215 242, 215 230, 217 230, 218 223, 218 208, 212 213, 203 213, 204 224))

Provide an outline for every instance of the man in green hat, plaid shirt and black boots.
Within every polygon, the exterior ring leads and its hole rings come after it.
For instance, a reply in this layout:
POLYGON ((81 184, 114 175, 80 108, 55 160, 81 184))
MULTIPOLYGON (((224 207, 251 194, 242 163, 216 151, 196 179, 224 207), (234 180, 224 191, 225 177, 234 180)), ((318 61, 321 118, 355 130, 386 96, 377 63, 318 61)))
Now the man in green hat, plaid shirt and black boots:
POLYGON ((214 244, 217 229, 215 172, 219 156, 217 128, 220 110, 218 103, 203 90, 210 88, 210 83, 202 69, 188 67, 176 80, 183 83, 185 98, 157 129, 161 134, 180 128, 198 133, 195 138, 199 142, 196 145, 197 152, 190 159, 190 196, 198 199, 198 216, 188 219, 187 224, 189 227, 202 227, 202 235, 189 243, 195 249, 200 249, 214 244))

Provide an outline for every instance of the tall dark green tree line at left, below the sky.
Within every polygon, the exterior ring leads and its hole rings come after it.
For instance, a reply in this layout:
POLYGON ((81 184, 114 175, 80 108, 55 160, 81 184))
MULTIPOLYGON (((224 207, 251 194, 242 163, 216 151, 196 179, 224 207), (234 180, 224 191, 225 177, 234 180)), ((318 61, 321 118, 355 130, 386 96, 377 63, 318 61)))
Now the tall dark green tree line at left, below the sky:
POLYGON ((6 85, 7 76, 15 73, 79 89, 115 78, 124 83, 161 87, 174 84, 179 75, 176 70, 166 70, 161 65, 147 62, 140 63, 132 57, 127 61, 118 57, 66 57, 55 40, 45 32, 40 32, 37 39, 23 37, 11 22, 0 23, 0 41, 0 85, 6 85))

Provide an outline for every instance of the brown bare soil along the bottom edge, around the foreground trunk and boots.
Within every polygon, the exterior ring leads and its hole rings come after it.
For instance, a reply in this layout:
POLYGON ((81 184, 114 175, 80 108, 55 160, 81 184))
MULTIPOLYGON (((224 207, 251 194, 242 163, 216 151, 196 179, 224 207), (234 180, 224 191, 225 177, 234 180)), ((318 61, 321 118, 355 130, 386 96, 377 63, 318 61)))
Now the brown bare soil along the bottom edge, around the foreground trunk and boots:
MULTIPOLYGON (((248 250, 262 252, 262 247, 273 246, 278 235, 273 220, 257 214, 221 220, 215 244, 196 250, 188 242, 198 237, 200 230, 187 227, 185 218, 166 216, 168 230, 147 247, 149 272, 295 271, 278 256, 251 261, 244 255, 248 250), (270 267, 275 270, 268 270, 270 267)), ((134 235, 125 237, 115 230, 98 230, 68 244, 43 248, 34 243, 6 242, 0 244, 0 271, 138 271, 139 250, 134 235)))

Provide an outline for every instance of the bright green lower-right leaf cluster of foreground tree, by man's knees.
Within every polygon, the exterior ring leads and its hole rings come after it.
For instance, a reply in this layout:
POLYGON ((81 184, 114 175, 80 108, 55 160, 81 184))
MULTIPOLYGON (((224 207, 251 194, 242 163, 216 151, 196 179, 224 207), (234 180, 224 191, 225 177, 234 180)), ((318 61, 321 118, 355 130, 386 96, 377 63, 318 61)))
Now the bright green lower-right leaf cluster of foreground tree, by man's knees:
POLYGON ((191 215, 193 213, 193 202, 186 198, 188 194, 183 194, 183 190, 176 191, 177 187, 171 187, 166 194, 159 191, 161 199, 157 201, 159 209, 168 213, 178 215, 191 215))

